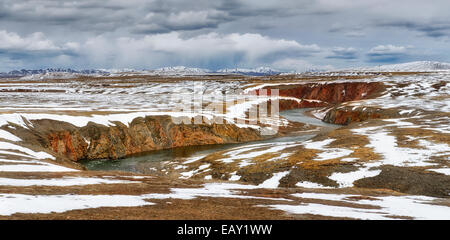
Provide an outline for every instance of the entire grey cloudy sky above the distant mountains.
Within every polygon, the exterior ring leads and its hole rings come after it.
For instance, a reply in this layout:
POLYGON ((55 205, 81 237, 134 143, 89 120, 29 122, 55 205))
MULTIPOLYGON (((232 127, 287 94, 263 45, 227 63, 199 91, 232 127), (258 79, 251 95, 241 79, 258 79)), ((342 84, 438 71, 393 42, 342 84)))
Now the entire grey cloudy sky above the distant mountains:
POLYGON ((450 61, 448 0, 0 0, 0 71, 450 61))

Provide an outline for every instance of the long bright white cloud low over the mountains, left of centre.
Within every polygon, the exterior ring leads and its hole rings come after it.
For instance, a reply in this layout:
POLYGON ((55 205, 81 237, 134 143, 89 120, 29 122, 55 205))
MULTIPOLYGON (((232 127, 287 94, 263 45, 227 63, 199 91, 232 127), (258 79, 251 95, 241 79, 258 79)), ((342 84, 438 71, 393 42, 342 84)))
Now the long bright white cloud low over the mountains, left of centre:
POLYGON ((274 39, 260 34, 208 33, 182 38, 177 32, 140 38, 123 37, 113 41, 95 37, 89 39, 81 49, 86 59, 98 63, 109 59, 115 65, 112 67, 211 67, 215 63, 252 67, 321 51, 315 44, 303 45, 297 41, 274 39))

